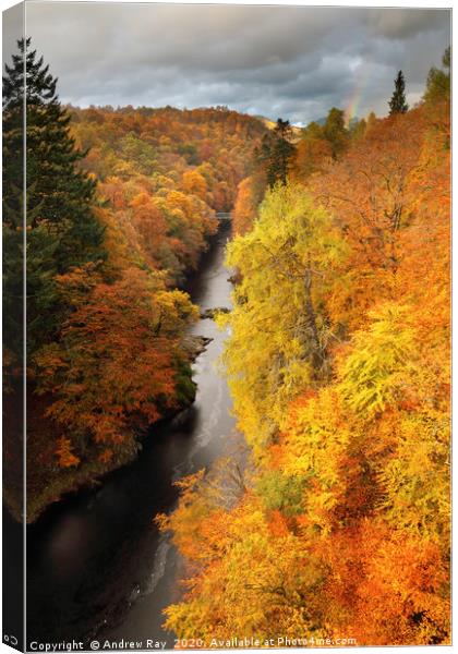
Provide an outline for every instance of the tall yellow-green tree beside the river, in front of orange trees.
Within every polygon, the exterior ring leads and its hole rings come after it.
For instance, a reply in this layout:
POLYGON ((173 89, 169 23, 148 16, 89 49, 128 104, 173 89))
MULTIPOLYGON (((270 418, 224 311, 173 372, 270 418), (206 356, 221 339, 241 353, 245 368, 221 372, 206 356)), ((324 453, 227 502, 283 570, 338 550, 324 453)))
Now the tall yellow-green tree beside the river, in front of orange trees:
POLYGON ((221 317, 232 331, 225 362, 240 426, 256 451, 297 389, 326 375, 332 337, 323 299, 341 256, 329 216, 298 185, 270 191, 252 231, 228 249, 242 281, 233 311, 221 317))

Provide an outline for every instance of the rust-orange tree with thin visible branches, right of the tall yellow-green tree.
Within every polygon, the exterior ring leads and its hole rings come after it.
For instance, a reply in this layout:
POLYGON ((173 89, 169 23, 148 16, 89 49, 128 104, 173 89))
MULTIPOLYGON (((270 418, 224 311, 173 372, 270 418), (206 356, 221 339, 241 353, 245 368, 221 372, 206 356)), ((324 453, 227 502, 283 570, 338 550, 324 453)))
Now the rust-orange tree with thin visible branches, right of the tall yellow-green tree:
POLYGON ((423 134, 419 111, 376 121, 313 180, 317 202, 336 216, 350 244, 347 271, 340 271, 328 303, 334 319, 347 327, 360 324, 375 298, 396 294, 400 237, 413 213, 408 181, 419 170, 423 134))

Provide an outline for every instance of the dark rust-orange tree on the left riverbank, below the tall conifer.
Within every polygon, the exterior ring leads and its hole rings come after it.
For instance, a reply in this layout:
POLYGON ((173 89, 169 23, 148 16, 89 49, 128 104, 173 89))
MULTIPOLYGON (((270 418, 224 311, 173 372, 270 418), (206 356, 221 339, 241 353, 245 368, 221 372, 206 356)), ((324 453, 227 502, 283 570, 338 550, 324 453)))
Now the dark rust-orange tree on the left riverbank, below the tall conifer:
MULTIPOLYGON (((59 283, 75 310, 60 342, 35 358, 37 392, 51 393, 47 414, 72 434, 80 458, 91 441, 125 457, 135 433, 179 403, 181 337, 196 310, 183 292, 164 290, 160 278, 137 268, 114 283, 94 283, 84 271, 59 283), (85 283, 91 292, 81 295, 85 283)), ((57 453, 68 465, 62 439, 57 453)))

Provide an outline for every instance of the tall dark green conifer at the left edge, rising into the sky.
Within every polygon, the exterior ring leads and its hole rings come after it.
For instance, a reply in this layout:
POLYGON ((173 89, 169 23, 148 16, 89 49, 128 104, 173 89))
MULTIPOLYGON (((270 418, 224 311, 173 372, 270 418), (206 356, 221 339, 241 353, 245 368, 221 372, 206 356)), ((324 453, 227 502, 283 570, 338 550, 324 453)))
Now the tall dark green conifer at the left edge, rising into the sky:
POLYGON ((70 114, 59 102, 57 78, 29 43, 17 41, 19 53, 3 75, 3 283, 8 328, 20 332, 25 68, 27 343, 35 350, 52 338, 62 314, 53 277, 101 262, 106 252, 104 228, 93 213, 96 183, 77 166, 85 153, 70 135, 70 114))

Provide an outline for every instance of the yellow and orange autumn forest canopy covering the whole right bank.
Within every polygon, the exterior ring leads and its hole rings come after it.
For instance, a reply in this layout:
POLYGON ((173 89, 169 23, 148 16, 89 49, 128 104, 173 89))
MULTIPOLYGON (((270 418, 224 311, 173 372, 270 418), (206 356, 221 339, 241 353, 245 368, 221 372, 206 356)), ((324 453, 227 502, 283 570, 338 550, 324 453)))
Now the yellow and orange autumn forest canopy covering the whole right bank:
POLYGON ((239 186, 219 322, 254 471, 158 519, 179 638, 449 643, 449 63, 417 107, 399 74, 387 118, 311 123, 261 203, 260 171, 239 186))

